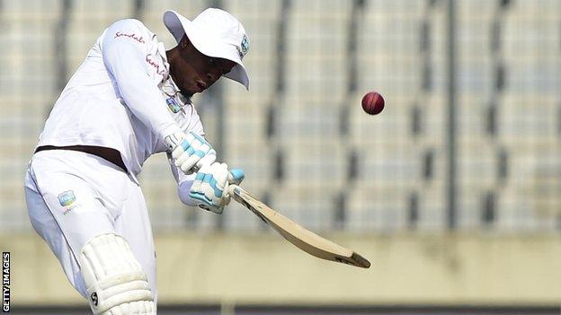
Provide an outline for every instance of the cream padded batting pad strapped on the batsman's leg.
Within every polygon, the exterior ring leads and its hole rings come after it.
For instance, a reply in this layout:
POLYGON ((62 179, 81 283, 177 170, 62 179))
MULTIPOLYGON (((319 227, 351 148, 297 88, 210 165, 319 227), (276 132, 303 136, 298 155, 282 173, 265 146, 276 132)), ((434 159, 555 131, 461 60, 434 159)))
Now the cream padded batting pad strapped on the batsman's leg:
POLYGON ((147 276, 122 237, 94 237, 79 260, 95 315, 156 314, 147 276))

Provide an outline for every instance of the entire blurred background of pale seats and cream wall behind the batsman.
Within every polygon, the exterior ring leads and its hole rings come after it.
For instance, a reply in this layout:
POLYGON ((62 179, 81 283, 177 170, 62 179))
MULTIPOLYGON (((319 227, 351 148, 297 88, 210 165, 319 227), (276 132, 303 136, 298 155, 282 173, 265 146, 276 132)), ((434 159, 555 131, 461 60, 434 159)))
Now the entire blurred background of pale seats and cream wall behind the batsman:
POLYGON ((219 158, 281 213, 370 258, 285 243, 253 214, 181 205, 165 156, 141 180, 163 314, 559 314, 561 1, 1 0, 0 247, 12 310, 85 314, 31 230, 22 178, 59 92, 111 22, 166 47, 166 9, 218 6, 251 39, 251 92, 196 104, 219 158), (381 92, 386 109, 361 111, 381 92))

